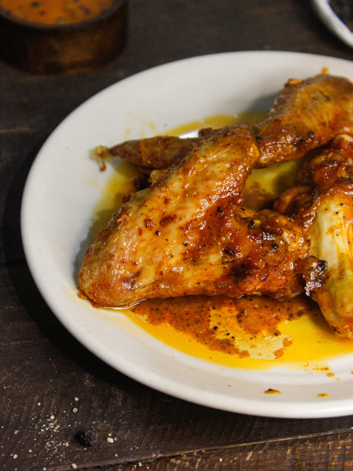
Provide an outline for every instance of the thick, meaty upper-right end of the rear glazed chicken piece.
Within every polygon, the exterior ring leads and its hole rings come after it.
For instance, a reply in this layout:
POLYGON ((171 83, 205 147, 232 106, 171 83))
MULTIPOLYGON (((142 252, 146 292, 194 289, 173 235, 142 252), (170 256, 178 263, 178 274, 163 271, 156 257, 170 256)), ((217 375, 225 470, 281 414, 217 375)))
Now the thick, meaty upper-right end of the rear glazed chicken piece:
POLYGON ((252 131, 260 148, 259 167, 300 159, 338 134, 353 133, 353 84, 328 74, 291 79, 252 131))

